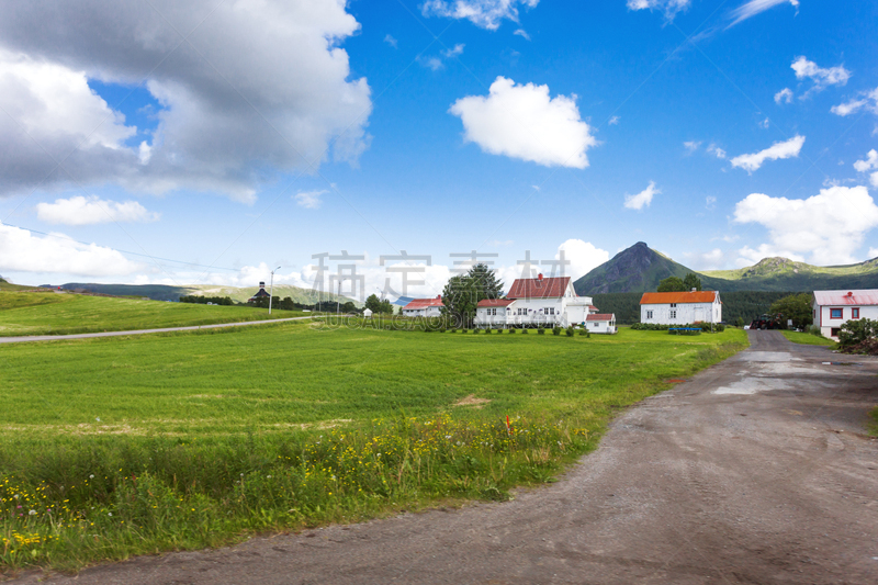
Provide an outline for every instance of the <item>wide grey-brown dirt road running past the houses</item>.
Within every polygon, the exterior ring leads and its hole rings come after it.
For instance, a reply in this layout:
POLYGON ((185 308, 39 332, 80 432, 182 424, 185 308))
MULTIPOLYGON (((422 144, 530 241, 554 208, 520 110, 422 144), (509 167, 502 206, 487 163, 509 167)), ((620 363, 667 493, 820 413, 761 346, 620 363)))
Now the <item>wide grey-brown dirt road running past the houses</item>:
MULTIPOLYGON (((752 348, 629 409, 562 481, 54 584, 878 583, 875 358, 752 348), (853 365, 824 364, 843 360, 853 365)), ((38 575, 20 583, 36 583, 38 575)))

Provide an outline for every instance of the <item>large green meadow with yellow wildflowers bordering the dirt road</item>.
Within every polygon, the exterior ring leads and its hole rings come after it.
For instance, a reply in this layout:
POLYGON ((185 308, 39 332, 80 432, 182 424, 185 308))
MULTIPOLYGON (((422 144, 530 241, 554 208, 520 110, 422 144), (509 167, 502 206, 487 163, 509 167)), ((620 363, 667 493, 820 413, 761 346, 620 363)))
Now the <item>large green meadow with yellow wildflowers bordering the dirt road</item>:
POLYGON ((505 499, 746 345, 316 327, 0 347, 2 566, 505 499))

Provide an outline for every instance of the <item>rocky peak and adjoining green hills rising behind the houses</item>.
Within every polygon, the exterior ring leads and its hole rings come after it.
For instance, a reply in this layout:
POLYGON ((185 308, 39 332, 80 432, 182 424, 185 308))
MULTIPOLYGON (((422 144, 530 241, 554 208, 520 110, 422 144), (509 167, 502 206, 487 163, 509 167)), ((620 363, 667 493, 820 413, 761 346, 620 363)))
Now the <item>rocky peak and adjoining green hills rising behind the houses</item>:
POLYGON ((813 291, 878 289, 878 258, 849 266, 819 267, 787 258, 765 258, 739 270, 698 272, 638 241, 573 283, 577 294, 655 291, 668 277, 694 272, 703 289, 733 291, 813 291))

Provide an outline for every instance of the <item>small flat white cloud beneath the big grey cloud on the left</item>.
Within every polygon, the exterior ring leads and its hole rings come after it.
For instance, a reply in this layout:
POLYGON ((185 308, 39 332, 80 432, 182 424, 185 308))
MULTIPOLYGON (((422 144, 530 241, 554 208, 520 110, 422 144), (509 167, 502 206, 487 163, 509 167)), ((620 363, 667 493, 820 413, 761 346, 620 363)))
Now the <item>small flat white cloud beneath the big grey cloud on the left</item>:
POLYGON ((136 201, 119 203, 79 195, 56 199, 55 203, 37 203, 36 216, 49 224, 92 225, 110 222, 155 222, 158 213, 150 213, 136 201))

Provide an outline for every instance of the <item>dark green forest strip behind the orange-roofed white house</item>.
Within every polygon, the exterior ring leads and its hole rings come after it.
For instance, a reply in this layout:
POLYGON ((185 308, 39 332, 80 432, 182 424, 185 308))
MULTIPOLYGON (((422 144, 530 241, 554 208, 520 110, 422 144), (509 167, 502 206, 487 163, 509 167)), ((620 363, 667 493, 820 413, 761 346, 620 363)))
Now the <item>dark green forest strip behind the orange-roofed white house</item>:
MULTIPOLYGON (((744 324, 768 312, 772 303, 795 292, 721 292, 722 320, 734 325, 738 317, 744 324)), ((640 299, 643 293, 606 293, 592 295, 594 305, 601 313, 615 313, 616 322, 621 325, 640 323, 640 299)))

